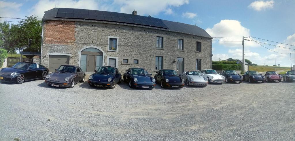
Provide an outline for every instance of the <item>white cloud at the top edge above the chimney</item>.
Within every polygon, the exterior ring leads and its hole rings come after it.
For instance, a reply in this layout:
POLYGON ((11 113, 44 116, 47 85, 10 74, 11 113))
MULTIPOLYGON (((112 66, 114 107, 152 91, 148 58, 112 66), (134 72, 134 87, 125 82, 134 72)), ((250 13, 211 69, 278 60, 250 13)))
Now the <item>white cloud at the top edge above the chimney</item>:
POLYGON ((167 12, 171 7, 189 4, 189 0, 114 0, 113 4, 119 5, 122 13, 131 13, 136 9, 138 15, 157 15, 160 12, 167 12))

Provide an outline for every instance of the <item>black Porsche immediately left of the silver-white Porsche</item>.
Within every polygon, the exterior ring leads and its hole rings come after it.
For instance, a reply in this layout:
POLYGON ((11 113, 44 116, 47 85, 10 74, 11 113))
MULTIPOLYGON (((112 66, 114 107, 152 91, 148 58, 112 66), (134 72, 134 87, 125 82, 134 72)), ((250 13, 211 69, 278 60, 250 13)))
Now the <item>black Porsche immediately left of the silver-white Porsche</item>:
POLYGON ((183 88, 184 86, 184 79, 177 75, 175 70, 159 70, 155 75, 155 80, 162 88, 183 88))

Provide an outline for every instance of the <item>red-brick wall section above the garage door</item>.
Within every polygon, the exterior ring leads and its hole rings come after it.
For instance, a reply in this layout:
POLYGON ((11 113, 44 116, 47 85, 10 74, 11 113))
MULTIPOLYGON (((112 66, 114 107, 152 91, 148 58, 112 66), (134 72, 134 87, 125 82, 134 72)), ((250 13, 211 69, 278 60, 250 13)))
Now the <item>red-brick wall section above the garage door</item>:
POLYGON ((75 22, 46 21, 43 31, 45 44, 73 45, 75 42, 75 22))

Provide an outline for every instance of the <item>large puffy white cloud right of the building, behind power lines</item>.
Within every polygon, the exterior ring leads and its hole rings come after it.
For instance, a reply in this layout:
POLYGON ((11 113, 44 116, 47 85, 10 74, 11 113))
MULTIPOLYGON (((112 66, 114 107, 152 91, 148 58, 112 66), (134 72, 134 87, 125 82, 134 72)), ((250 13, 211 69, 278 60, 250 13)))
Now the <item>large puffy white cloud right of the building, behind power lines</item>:
MULTIPOLYGON (((231 38, 242 38, 250 36, 250 29, 243 27, 241 22, 237 20, 224 19, 219 23, 214 24, 212 28, 207 28, 206 31, 212 37, 231 37, 231 38)), ((242 47, 242 39, 230 39, 230 38, 215 38, 216 40, 226 41, 218 42, 220 45, 226 47, 242 47)), ((214 39, 214 40, 215 40, 214 39)), ((245 47, 256 47, 258 44, 255 42, 245 42, 245 47)))

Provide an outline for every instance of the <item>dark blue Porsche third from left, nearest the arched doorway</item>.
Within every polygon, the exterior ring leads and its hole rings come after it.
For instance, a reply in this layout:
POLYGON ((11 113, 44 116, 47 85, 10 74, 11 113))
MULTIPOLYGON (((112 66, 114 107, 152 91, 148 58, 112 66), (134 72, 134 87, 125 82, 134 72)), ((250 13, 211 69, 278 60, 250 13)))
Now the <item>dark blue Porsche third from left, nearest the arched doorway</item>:
POLYGON ((95 73, 91 74, 88 79, 90 86, 115 88, 117 83, 121 83, 122 75, 115 67, 102 66, 94 71, 95 73))

